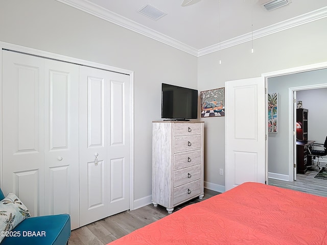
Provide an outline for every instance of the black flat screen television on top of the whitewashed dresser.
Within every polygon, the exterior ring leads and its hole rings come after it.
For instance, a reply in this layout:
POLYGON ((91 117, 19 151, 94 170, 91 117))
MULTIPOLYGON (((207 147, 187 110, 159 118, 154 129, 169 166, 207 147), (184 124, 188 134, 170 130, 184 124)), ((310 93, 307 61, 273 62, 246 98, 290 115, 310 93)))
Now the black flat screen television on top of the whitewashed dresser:
POLYGON ((161 118, 189 120, 198 118, 198 90, 162 83, 161 118))

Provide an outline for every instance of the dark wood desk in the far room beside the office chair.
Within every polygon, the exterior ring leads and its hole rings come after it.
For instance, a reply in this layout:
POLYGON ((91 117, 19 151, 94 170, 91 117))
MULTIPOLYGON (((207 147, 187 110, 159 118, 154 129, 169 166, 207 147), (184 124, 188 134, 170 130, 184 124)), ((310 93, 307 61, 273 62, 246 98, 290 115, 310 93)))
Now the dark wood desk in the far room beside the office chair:
POLYGON ((308 156, 308 146, 313 144, 313 140, 296 141, 296 174, 305 174, 307 166, 312 165, 312 158, 308 156))

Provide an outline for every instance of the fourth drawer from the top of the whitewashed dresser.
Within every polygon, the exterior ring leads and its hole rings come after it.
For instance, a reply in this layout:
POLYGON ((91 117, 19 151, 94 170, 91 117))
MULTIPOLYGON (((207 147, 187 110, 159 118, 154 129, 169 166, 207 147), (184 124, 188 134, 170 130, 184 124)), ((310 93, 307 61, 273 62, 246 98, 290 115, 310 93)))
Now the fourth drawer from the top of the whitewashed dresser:
POLYGON ((174 171, 174 187, 199 180, 201 178, 201 166, 195 165, 174 171))

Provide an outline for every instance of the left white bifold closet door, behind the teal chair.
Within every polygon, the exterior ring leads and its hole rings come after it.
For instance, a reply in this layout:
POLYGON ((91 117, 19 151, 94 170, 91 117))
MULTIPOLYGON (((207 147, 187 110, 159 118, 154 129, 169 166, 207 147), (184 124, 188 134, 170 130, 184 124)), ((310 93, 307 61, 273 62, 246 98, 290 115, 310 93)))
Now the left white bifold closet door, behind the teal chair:
POLYGON ((79 227, 79 67, 3 51, 3 189, 79 227))

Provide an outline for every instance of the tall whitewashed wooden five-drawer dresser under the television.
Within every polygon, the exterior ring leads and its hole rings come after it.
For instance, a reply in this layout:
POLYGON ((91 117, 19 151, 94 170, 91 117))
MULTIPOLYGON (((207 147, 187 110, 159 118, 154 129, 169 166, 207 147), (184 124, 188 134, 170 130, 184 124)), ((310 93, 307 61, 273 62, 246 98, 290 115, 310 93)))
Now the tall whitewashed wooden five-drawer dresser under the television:
POLYGON ((174 207, 203 198, 203 129, 200 121, 152 122, 152 203, 174 207))

